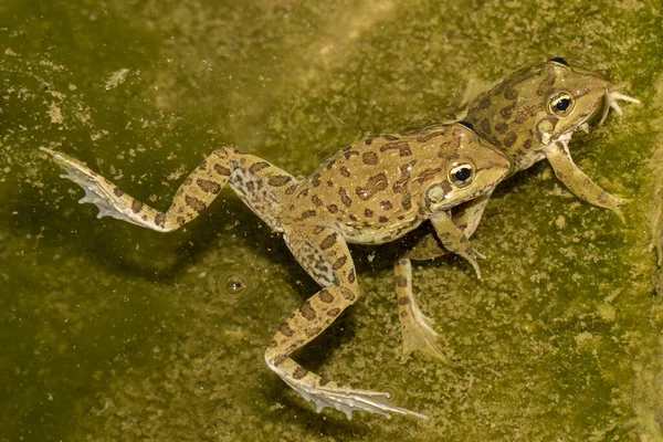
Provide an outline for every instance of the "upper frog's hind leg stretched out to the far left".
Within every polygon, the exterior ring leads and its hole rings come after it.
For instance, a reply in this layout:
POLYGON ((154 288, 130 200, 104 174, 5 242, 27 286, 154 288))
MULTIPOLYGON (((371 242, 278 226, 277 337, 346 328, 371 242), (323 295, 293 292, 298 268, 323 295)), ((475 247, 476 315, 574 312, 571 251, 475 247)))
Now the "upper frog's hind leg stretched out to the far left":
POLYGON ((170 208, 158 211, 122 191, 108 179, 94 172, 75 158, 46 149, 67 171, 67 178, 85 190, 78 202, 92 202, 99 209, 97 218, 113 217, 158 232, 170 232, 196 219, 230 181, 232 189, 273 229, 277 222, 283 193, 294 190, 296 180, 263 159, 230 148, 219 148, 208 156, 177 190, 170 208), (288 186, 286 186, 288 185, 288 186))

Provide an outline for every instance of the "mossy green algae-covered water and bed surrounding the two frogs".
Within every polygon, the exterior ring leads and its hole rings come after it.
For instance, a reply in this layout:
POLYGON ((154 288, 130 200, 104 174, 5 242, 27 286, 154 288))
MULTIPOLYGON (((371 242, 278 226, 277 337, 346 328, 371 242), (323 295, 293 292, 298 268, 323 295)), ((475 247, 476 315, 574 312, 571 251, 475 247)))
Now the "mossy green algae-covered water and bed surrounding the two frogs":
POLYGON ((661 19, 651 0, 3 1, 0 441, 663 440, 649 224, 661 19), (165 209, 220 144, 306 175, 551 56, 643 101, 571 141, 588 175, 631 198, 627 223, 538 164, 486 210, 483 280, 456 259, 414 266, 453 358, 399 364, 381 248, 354 249, 365 296, 297 356, 429 421, 317 414, 267 369, 265 345, 317 288, 232 192, 158 234, 97 221, 38 150, 165 209), (229 292, 231 277, 245 287, 229 292))

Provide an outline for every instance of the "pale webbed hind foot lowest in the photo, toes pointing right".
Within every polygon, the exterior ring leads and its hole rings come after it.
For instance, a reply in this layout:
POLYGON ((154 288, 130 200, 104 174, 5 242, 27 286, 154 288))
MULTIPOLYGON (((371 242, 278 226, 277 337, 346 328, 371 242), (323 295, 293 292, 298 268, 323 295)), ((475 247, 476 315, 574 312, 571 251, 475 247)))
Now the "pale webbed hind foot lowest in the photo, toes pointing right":
POLYGON ((354 390, 337 385, 335 388, 312 387, 295 382, 292 379, 282 378, 288 386, 299 392, 304 399, 315 403, 315 411, 320 412, 329 407, 345 413, 352 419, 352 411, 364 410, 371 413, 391 418, 392 413, 413 415, 419 419, 428 419, 427 415, 390 404, 388 392, 354 390))

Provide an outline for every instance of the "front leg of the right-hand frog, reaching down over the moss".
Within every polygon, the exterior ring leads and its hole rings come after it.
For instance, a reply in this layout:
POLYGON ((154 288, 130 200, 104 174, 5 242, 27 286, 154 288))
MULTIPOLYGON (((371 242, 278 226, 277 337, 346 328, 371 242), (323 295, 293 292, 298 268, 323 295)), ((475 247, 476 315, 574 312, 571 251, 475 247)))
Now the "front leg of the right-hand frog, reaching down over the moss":
POLYGON ((575 196, 604 209, 612 210, 622 222, 624 215, 619 204, 624 200, 614 197, 599 187, 582 170, 576 166, 568 149, 568 140, 560 139, 544 150, 555 175, 575 196))

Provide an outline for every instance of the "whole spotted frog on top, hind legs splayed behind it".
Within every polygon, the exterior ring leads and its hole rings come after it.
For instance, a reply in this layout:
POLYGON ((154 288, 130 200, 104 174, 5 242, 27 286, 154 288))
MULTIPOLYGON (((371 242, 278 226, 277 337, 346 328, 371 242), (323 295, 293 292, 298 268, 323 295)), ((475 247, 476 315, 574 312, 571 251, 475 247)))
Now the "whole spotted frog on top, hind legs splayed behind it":
POLYGON ((80 202, 95 204, 98 218, 113 217, 157 232, 170 232, 194 220, 228 185, 283 235, 294 257, 322 286, 278 327, 265 350, 267 367, 313 401, 317 412, 335 408, 348 419, 356 410, 427 419, 391 404, 386 392, 333 381, 291 356, 359 298, 348 243, 391 242, 430 222, 445 249, 467 260, 478 275, 481 254, 452 222, 450 211, 492 192, 512 170, 507 156, 464 122, 406 135, 365 137, 301 180, 260 157, 221 147, 185 179, 162 212, 75 158, 45 147, 41 150, 66 171, 61 177, 85 190, 80 202))

